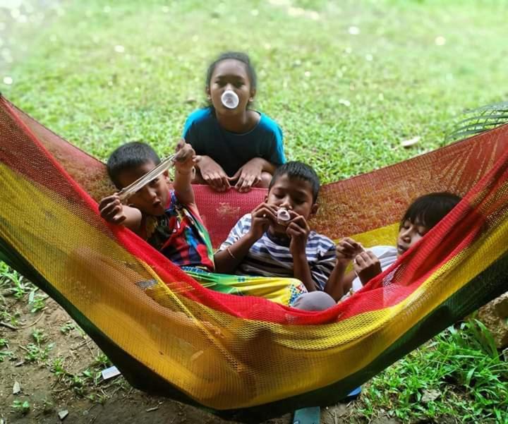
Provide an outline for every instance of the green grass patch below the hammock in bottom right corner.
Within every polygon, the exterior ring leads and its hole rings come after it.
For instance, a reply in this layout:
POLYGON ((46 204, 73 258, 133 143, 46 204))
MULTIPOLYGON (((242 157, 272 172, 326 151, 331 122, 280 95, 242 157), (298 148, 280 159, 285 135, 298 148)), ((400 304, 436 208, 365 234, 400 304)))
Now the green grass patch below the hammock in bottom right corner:
POLYGON ((460 423, 506 423, 508 363, 476 320, 450 327, 368 385, 361 412, 380 408, 405 422, 459 417, 460 423))

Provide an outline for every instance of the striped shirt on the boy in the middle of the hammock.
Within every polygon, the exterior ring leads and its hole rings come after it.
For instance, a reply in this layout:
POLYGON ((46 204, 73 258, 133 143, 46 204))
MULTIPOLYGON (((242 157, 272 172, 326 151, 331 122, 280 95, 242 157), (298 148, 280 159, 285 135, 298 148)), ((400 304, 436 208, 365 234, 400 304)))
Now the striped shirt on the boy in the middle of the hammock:
MULTIPOLYGON (((250 214, 243 215, 229 232, 219 250, 225 250, 245 236, 250 229, 250 214)), ((328 237, 310 231, 307 239, 306 256, 310 274, 316 288, 322 290, 334 269, 337 257, 335 244, 328 237)), ((236 268, 239 275, 260 275, 262 277, 294 277, 293 256, 289 251, 289 238, 276 238, 265 233, 248 251, 236 268)))

